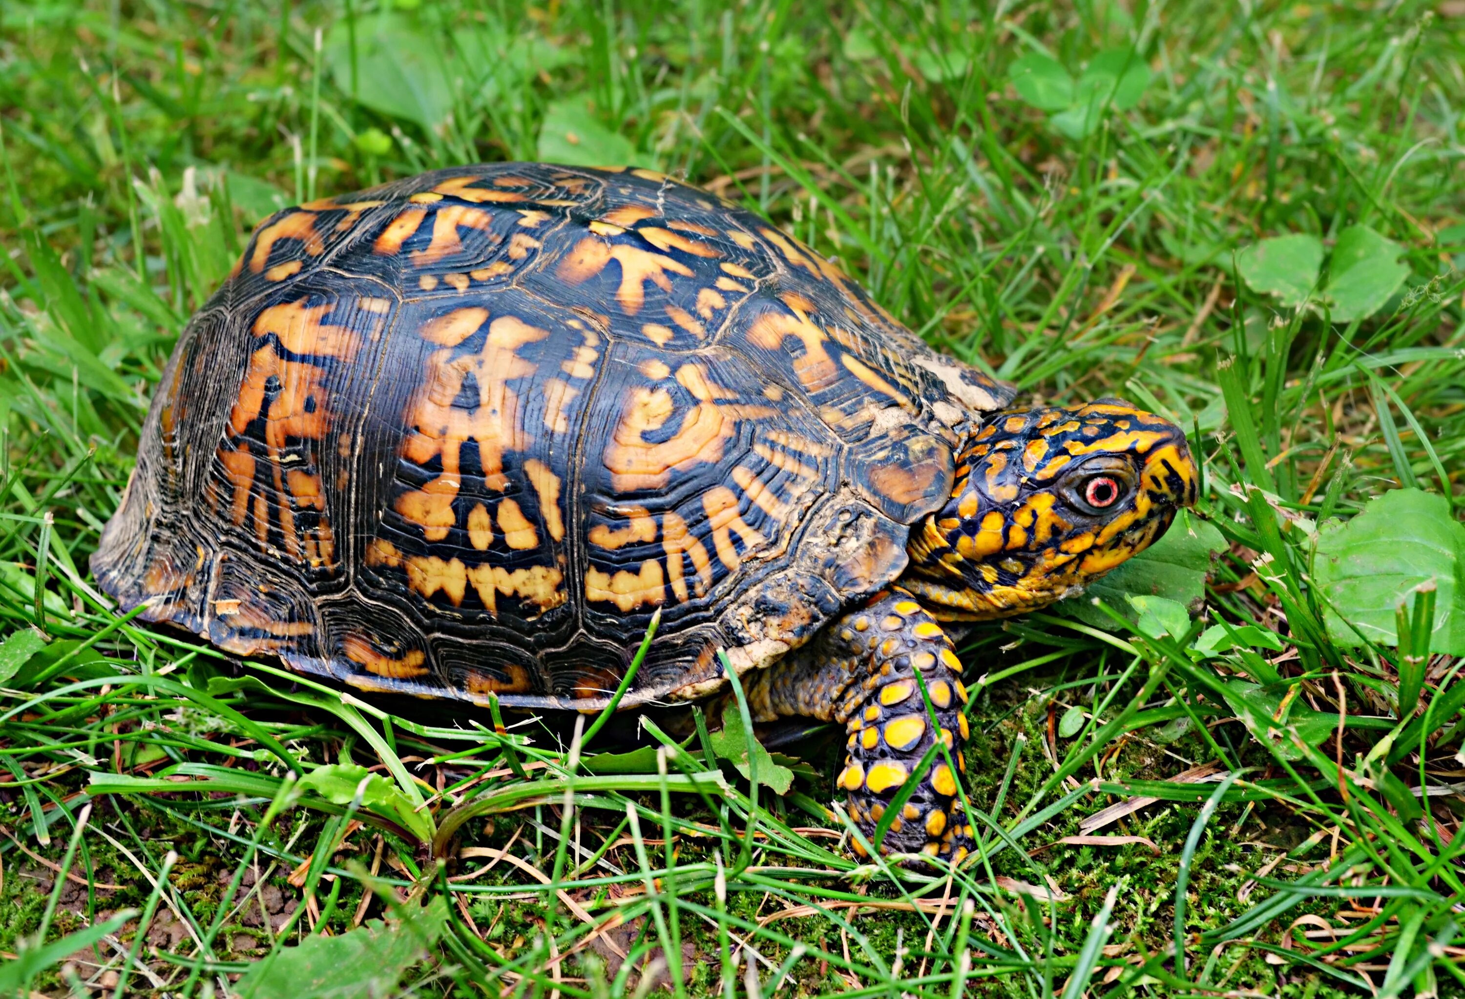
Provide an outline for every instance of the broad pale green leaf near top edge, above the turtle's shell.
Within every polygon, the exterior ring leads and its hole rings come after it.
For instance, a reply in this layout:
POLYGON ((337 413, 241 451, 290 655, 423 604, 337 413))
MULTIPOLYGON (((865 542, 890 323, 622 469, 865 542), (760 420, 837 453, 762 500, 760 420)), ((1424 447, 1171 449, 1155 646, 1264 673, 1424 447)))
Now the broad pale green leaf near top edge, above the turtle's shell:
MULTIPOLYGON (((419 32, 412 18, 359 18, 356 101, 431 132, 453 111, 453 86, 444 59, 444 47, 419 32)), ((335 86, 350 97, 352 44, 344 21, 337 21, 325 40, 325 63, 331 67, 335 86)))

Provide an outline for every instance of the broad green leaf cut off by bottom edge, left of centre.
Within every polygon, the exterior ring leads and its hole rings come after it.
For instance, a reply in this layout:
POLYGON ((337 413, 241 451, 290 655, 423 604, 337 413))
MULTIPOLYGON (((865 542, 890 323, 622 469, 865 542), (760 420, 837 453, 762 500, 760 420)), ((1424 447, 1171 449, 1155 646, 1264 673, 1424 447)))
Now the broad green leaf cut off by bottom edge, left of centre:
POLYGON ((388 923, 371 920, 340 936, 308 936, 253 965, 240 999, 371 999, 397 995, 397 983, 437 946, 447 927, 441 896, 398 910, 388 923))

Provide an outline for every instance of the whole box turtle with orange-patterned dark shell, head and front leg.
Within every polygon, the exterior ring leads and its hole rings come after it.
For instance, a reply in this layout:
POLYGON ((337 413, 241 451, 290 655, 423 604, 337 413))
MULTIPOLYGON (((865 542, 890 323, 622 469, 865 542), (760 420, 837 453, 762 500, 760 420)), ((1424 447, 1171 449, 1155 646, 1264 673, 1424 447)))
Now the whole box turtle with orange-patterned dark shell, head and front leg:
POLYGON ((659 615, 621 709, 731 671, 754 722, 847 728, 857 854, 900 794, 878 848, 960 861, 954 639, 1080 592, 1197 491, 1172 422, 1014 397, 708 190, 437 170, 253 231, 91 565, 144 621, 463 710, 604 710, 659 615))

